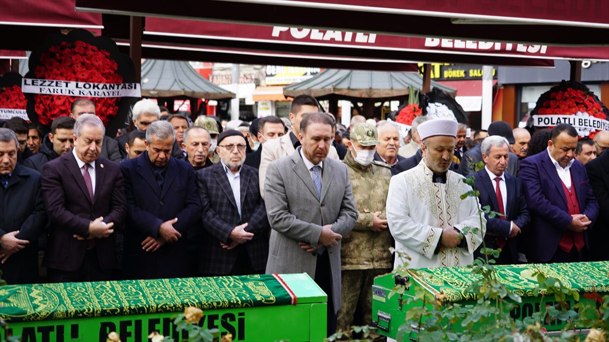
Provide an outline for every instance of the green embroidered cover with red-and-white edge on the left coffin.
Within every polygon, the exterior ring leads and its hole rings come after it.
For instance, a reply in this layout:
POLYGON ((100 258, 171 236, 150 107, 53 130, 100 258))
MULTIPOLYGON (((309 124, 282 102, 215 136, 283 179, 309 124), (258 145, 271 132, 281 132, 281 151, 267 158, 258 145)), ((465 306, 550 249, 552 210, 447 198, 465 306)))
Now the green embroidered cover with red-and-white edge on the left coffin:
POLYGON ((296 304, 281 276, 7 285, 0 287, 0 318, 21 322, 181 312, 189 306, 213 310, 296 304))

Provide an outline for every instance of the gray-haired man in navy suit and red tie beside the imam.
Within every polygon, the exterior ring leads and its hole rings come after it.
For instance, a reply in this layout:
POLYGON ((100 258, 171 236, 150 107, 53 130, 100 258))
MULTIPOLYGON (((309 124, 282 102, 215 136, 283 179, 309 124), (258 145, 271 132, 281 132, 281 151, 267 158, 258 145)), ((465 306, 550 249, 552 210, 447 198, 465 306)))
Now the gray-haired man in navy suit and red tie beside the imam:
MULTIPOLYGON (((490 206, 498 216, 487 219, 487 248, 501 248, 497 258, 499 265, 518 263, 518 239, 524 226, 529 223, 526 198, 522 182, 505 172, 510 157, 510 145, 502 136, 489 136, 481 144, 484 169, 475 173, 476 189, 480 192, 480 204, 490 206)), ((480 249, 476 257, 481 256, 480 249)))

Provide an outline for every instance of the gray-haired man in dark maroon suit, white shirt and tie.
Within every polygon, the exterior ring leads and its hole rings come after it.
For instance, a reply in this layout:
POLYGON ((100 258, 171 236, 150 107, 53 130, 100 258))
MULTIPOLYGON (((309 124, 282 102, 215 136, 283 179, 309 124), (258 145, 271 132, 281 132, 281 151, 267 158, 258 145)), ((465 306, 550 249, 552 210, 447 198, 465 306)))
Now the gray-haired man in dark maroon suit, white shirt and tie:
POLYGON ((127 215, 122 173, 100 156, 105 128, 93 114, 74 124, 74 148, 43 169, 51 221, 43 265, 51 282, 105 281, 116 260, 114 229, 127 215))

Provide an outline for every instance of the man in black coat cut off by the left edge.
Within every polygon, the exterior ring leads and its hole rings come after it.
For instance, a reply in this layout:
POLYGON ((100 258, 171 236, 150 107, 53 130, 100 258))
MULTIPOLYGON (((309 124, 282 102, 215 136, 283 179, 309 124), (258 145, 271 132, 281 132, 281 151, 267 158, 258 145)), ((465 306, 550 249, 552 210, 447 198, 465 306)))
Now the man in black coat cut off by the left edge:
POLYGON ((38 237, 47 222, 40 173, 17 164, 15 133, 0 128, 0 271, 7 284, 38 282, 38 237))

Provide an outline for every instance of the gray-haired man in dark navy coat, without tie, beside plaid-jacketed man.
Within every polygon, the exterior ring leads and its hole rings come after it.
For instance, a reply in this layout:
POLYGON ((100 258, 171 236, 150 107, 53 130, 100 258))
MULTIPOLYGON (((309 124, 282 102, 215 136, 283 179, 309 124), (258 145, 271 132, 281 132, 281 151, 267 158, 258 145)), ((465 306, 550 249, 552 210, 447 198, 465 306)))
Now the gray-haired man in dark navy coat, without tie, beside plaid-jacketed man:
POLYGON ((124 274, 130 279, 188 276, 186 231, 199 224, 201 203, 192 166, 172 158, 174 127, 153 122, 146 152, 121 163, 128 214, 124 274))

